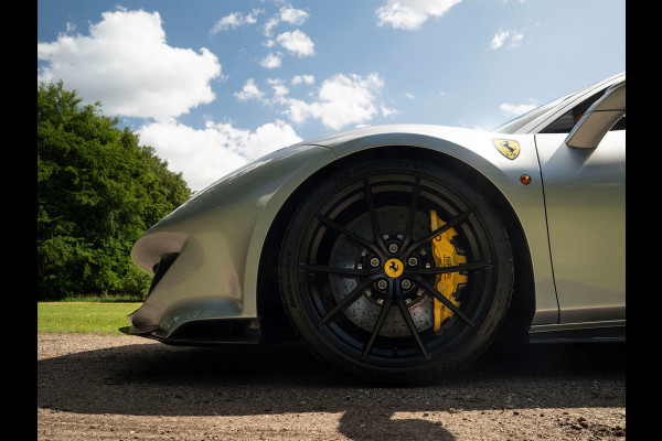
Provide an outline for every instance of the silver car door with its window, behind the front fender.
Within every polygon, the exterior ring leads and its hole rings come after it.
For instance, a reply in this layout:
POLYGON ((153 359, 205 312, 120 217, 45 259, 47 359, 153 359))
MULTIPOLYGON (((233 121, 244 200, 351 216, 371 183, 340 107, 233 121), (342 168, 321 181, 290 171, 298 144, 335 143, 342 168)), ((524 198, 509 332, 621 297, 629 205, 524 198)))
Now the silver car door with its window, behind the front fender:
MULTIPOLYGON (((622 95, 622 117, 597 147, 568 146, 569 129, 559 125, 535 135, 559 323, 624 320, 624 84, 622 95)), ((587 107, 564 115, 566 127, 587 107)))

